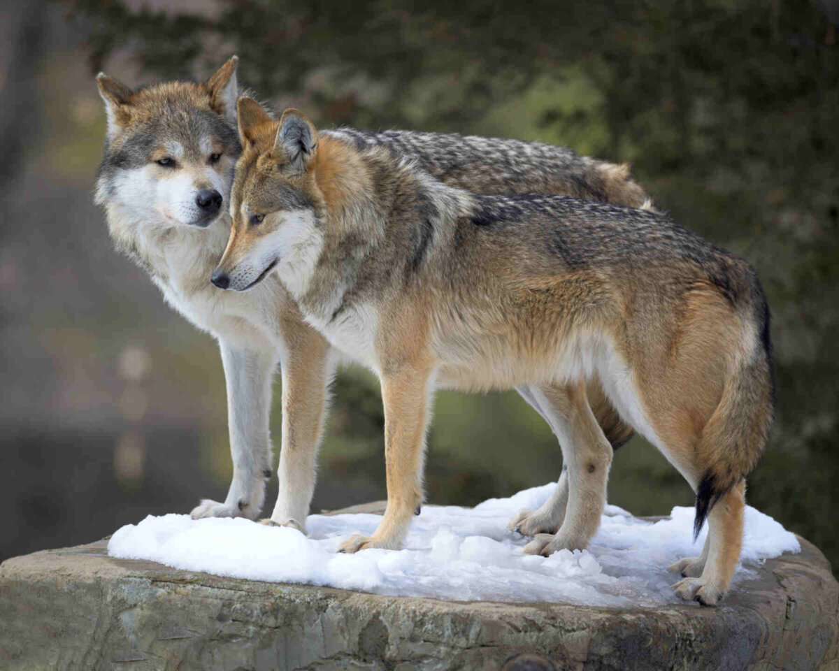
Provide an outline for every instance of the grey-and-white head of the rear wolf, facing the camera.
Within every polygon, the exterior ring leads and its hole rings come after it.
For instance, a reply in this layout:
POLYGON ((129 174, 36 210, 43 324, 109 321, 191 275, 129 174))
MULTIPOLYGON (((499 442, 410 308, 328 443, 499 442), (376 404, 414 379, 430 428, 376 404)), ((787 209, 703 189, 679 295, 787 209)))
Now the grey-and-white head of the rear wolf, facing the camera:
POLYGON ((107 112, 96 203, 133 221, 209 226, 225 211, 241 151, 238 59, 203 84, 170 81, 132 91, 100 73, 107 112))

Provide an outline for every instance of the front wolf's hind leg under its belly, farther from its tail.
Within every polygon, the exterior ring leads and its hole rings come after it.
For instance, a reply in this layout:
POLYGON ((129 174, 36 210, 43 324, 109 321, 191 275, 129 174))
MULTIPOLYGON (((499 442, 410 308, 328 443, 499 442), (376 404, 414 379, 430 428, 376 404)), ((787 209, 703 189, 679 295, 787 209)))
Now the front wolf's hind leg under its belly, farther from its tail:
POLYGON ((560 549, 585 548, 597 533, 606 484, 612 465, 612 445, 597 424, 582 382, 566 387, 539 388, 537 398, 550 408, 567 466, 568 504, 560 530, 551 536, 539 534, 524 547, 528 554, 552 554, 560 549))

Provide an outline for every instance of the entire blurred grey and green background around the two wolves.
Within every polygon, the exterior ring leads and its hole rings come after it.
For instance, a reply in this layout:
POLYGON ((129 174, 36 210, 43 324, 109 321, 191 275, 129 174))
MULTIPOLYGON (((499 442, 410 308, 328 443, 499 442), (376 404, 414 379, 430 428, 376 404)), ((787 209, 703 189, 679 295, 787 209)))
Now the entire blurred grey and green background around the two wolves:
MULTIPOLYGON (((227 493, 216 343, 112 250, 92 204, 105 130, 93 75, 203 80, 237 54, 241 85, 321 126, 533 139, 628 161, 659 208, 748 258, 773 311, 778 380, 748 500, 839 567, 839 4, 515 7, 3 3, 0 559, 227 493)), ((348 368, 334 391, 315 512, 385 497, 378 384, 348 368)), ((279 427, 274 403, 276 452, 279 427)), ((508 496, 560 466, 517 395, 437 395, 430 502, 508 496)), ((634 438, 615 456, 609 501, 656 515, 693 497, 634 438)))

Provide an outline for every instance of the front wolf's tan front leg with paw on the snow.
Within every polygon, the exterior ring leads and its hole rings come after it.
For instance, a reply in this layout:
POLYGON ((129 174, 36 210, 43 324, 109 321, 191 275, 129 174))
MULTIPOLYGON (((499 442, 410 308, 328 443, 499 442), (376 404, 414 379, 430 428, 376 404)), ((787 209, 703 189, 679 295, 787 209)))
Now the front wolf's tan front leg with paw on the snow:
POLYGON ((429 392, 430 367, 403 366, 398 372, 382 376, 388 507, 373 536, 353 536, 341 544, 341 552, 402 546, 411 518, 423 499, 429 392))

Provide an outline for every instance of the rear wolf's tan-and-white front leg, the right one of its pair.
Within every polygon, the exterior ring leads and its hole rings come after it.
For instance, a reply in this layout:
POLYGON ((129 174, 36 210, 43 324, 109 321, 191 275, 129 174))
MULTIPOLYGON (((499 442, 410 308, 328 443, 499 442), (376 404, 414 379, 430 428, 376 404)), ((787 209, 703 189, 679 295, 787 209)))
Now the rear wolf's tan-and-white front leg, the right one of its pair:
POLYGON ((326 419, 327 386, 333 362, 330 346, 301 323, 287 339, 282 360, 283 442, 279 453, 279 493, 271 518, 263 523, 305 533, 315 492, 315 460, 326 419))

